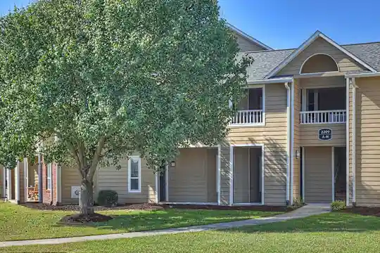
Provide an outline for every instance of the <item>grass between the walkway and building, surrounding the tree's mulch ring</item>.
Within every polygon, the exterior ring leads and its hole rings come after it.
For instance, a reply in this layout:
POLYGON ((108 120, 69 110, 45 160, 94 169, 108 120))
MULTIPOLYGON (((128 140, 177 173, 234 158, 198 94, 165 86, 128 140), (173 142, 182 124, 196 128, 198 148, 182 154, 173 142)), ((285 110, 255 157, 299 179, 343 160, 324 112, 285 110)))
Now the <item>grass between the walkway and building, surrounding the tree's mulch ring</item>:
POLYGON ((278 214, 278 212, 239 210, 166 209, 153 212, 112 210, 99 212, 114 217, 108 222, 91 223, 87 226, 58 224, 63 216, 72 213, 74 212, 29 209, 2 202, 0 203, 0 241, 149 231, 238 221, 278 214))

